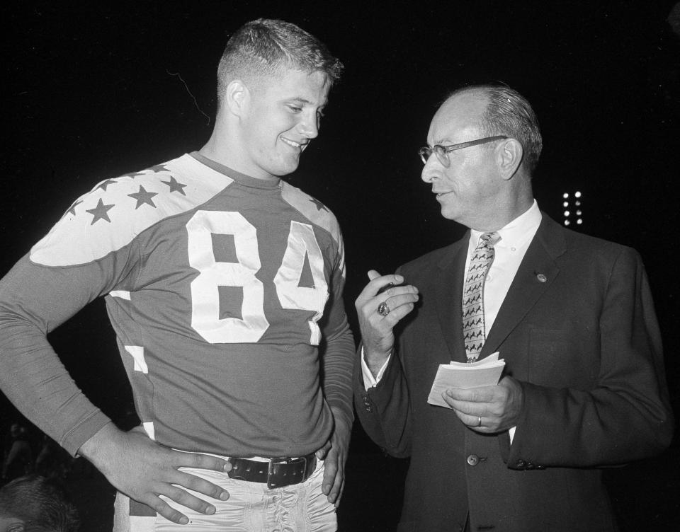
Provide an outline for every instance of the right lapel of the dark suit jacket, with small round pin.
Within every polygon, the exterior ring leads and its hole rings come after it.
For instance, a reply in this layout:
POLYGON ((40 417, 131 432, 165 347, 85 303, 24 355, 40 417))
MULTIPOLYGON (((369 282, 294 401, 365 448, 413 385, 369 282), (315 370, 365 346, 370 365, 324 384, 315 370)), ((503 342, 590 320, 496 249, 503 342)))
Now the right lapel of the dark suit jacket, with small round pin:
POLYGON ((526 250, 494 325, 487 334, 480 358, 498 350, 550 287, 560 273, 555 258, 565 252, 565 246, 562 228, 543 213, 538 231, 526 250))

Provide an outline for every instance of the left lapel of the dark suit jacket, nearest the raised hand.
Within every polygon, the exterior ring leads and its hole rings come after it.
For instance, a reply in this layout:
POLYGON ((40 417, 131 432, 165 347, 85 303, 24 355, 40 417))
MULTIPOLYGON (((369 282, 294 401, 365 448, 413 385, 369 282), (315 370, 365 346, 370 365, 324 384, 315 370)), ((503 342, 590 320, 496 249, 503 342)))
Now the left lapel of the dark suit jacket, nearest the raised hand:
MULTIPOLYGON (((450 352, 451 360, 465 362, 463 341, 463 276, 470 231, 451 246, 450 253, 439 262, 441 276, 432 279, 436 287, 435 301, 439 325, 450 352)), ((448 363, 450 361, 446 361, 448 363)))

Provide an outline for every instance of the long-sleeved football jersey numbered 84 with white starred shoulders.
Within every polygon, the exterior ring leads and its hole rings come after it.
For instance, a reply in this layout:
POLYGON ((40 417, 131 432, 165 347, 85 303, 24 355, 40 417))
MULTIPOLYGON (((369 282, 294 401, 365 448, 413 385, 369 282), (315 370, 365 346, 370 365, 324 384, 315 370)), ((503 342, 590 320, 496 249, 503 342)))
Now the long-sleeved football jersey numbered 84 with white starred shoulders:
POLYGON ((3 279, 3 386, 37 388, 40 403, 7 395, 75 453, 108 420, 45 333, 105 295, 152 439, 227 456, 316 451, 331 405, 352 416, 344 272, 335 217, 283 180, 196 153, 107 179, 3 279))

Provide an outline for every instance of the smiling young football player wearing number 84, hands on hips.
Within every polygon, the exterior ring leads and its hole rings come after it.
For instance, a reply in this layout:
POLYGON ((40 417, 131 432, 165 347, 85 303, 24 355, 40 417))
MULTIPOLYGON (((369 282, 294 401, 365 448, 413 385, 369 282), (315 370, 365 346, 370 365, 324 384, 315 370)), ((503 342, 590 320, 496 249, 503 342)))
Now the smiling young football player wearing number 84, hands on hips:
POLYGON ((336 529, 344 248, 329 209, 280 177, 341 69, 293 24, 247 23, 220 60, 208 143, 96 185, 0 282, 3 391, 118 489, 116 530, 336 529), (127 433, 45 338, 101 295, 142 420, 127 433))

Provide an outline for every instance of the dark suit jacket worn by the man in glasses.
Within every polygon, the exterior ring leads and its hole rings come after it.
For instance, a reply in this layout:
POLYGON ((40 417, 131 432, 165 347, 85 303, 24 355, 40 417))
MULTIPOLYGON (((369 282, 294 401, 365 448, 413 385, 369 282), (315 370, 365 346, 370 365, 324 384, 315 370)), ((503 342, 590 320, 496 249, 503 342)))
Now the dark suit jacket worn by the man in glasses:
POLYGON ((482 435, 427 403, 439 364, 465 362, 461 300, 469 233, 399 269, 419 307, 358 417, 394 456, 411 456, 399 531, 616 530, 599 466, 662 451, 673 431, 659 328, 631 248, 543 220, 480 358, 499 351, 524 405, 507 432, 482 435), (542 274, 542 275, 540 275, 542 274))

